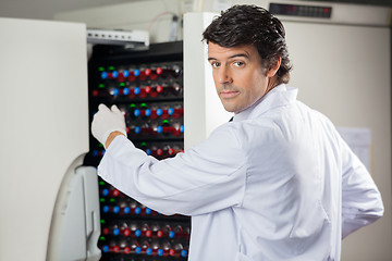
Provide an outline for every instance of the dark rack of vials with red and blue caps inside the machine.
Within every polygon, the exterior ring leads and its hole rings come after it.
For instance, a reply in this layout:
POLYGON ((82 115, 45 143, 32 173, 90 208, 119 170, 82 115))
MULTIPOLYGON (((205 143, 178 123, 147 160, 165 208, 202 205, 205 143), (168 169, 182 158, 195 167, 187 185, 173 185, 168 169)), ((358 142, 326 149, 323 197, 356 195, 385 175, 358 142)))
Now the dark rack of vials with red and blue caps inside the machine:
MULTIPOLYGON (((90 120, 99 103, 117 104, 135 146, 159 160, 184 148, 182 42, 148 51, 96 46, 89 61, 90 120)), ((85 164, 98 165, 103 146, 90 138, 85 164)), ((131 159, 130 159, 131 160, 131 159)), ((99 179, 101 260, 187 260, 191 223, 166 216, 99 179)))

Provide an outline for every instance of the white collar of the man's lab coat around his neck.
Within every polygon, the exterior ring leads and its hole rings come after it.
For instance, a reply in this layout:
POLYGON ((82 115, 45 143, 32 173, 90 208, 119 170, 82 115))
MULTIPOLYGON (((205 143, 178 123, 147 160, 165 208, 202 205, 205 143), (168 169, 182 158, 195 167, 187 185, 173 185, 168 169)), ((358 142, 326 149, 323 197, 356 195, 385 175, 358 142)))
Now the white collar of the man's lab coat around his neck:
POLYGON ((278 85, 261 99, 256 101, 252 107, 235 114, 233 121, 240 122, 247 119, 253 119, 273 108, 285 105, 296 100, 297 92, 298 89, 286 87, 285 84, 278 85))

